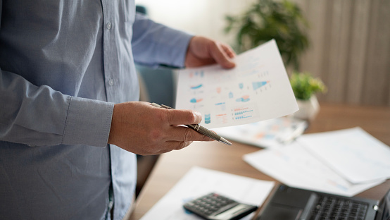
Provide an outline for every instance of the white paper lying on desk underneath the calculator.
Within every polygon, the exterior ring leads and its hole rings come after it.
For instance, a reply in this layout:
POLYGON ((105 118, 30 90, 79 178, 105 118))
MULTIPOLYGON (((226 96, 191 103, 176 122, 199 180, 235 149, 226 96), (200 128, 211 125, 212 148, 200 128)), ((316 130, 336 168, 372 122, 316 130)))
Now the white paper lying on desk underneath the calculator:
MULTIPOLYGON (((263 204, 274 182, 230 173, 193 167, 141 220, 196 220, 194 214, 184 212, 183 204, 207 193, 216 192, 239 202, 263 204)), ((251 215, 244 219, 249 219, 251 215)))

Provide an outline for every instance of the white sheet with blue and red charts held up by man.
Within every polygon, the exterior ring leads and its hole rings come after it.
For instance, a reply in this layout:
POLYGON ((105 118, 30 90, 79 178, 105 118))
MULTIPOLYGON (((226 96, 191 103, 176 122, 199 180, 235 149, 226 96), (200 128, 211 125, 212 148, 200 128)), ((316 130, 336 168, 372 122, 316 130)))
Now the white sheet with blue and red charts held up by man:
POLYGON ((298 110, 275 40, 238 55, 236 67, 179 71, 176 109, 201 112, 202 126, 237 126, 298 110))

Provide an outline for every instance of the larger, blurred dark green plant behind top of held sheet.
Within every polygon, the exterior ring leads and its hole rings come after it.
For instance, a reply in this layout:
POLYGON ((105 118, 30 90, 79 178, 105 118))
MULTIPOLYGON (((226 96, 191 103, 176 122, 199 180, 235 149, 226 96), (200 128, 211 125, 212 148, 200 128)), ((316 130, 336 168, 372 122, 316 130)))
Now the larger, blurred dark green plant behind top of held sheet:
POLYGON ((275 39, 286 66, 299 69, 299 57, 309 47, 308 22, 291 1, 258 0, 241 15, 226 16, 225 32, 234 32, 234 49, 243 52, 275 39))

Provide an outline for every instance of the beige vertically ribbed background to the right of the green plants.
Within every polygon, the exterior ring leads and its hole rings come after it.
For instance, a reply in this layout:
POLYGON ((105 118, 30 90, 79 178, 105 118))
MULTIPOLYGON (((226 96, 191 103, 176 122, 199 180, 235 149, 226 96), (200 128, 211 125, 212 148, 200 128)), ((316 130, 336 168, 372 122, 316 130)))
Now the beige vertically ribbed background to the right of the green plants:
POLYGON ((329 87, 329 102, 390 106, 390 1, 300 0, 311 49, 302 67, 329 87))

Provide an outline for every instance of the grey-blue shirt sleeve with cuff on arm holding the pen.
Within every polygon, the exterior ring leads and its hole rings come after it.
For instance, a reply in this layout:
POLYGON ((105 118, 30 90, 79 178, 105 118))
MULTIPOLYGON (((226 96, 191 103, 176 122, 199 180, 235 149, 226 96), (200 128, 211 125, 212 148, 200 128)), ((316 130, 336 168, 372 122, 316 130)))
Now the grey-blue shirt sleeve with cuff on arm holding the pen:
POLYGON ((30 146, 106 147, 113 103, 37 87, 0 69, 0 140, 30 146))

